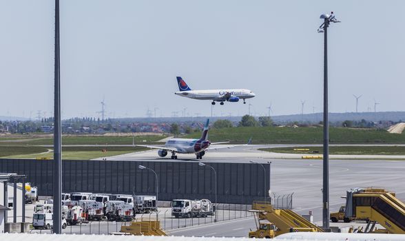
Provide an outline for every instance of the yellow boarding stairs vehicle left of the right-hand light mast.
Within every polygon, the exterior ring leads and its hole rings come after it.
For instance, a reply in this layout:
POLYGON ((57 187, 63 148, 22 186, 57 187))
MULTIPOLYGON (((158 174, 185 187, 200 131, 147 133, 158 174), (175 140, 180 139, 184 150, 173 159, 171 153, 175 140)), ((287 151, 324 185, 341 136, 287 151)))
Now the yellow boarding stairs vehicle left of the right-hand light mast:
POLYGON ((252 210, 256 231, 249 232, 249 238, 274 238, 289 232, 323 232, 315 224, 302 218, 290 209, 274 209, 270 202, 253 202, 252 210))

